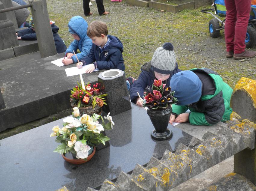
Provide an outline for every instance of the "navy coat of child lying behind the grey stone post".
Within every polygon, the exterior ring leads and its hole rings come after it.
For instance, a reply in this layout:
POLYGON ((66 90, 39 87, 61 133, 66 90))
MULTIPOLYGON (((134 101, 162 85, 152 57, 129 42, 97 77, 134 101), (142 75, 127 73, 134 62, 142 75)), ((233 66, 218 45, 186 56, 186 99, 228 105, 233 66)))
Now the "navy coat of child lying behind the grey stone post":
MULTIPOLYGON (((57 53, 65 52, 67 46, 58 34, 59 27, 56 26, 54 23, 51 24, 51 27, 57 53)), ((21 40, 36 40, 36 32, 33 31, 32 28, 25 28, 23 30, 17 31, 17 33, 18 37, 21 37, 21 40)))

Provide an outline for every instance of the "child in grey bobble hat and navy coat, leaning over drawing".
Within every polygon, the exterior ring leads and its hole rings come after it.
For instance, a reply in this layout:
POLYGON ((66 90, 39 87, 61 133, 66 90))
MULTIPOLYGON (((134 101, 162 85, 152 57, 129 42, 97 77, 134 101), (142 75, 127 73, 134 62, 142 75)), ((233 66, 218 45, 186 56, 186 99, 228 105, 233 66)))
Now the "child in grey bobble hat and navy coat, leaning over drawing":
POLYGON ((172 43, 164 43, 158 47, 151 61, 145 63, 141 67, 139 78, 130 87, 130 97, 133 103, 142 107, 140 97, 144 97, 144 90, 148 85, 154 83, 154 79, 162 79, 163 84, 170 85, 170 79, 173 74, 180 72, 176 63, 176 55, 173 51, 172 43))

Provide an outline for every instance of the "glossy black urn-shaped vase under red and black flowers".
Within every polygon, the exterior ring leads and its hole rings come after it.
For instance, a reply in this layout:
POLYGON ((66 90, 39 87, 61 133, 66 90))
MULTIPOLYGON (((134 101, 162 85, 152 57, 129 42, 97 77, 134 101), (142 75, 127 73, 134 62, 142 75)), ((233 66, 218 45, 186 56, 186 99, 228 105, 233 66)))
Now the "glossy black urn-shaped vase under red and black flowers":
POLYGON ((153 139, 163 141, 172 137, 172 131, 167 129, 172 111, 171 106, 162 110, 148 107, 147 114, 155 127, 155 130, 151 132, 153 139))

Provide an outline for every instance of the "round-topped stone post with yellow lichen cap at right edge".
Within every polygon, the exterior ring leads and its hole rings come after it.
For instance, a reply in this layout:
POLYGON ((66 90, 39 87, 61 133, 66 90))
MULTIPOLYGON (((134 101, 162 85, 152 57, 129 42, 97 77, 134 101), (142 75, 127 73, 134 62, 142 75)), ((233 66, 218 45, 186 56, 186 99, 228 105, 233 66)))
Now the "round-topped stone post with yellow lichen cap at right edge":
MULTIPOLYGON (((256 118, 256 81, 242 77, 234 88, 231 97, 231 107, 242 117, 255 121, 256 118)), ((253 122, 243 120, 250 127, 256 128, 253 122)), ((234 172, 239 173, 248 178, 256 185, 256 150, 245 149, 234 155, 234 172)))

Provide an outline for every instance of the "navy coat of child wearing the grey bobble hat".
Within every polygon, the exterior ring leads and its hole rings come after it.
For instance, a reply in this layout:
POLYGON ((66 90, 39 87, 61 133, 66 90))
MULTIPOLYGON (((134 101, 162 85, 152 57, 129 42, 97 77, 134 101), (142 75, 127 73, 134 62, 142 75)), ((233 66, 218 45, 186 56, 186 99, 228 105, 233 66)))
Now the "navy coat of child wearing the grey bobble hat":
MULTIPOLYGON (((181 70, 178 68, 178 64, 176 63, 176 67, 173 70, 173 73, 170 74, 170 77, 167 79, 166 85, 170 85, 170 80, 173 74, 176 74, 180 72, 181 70)), ((136 103, 136 99, 138 98, 137 92, 139 92, 140 97, 144 97, 144 90, 148 85, 151 85, 154 83, 155 73, 153 70, 151 70, 151 61, 144 64, 141 67, 141 73, 139 75, 139 78, 131 85, 130 88, 130 97, 131 101, 133 103, 136 103)))

